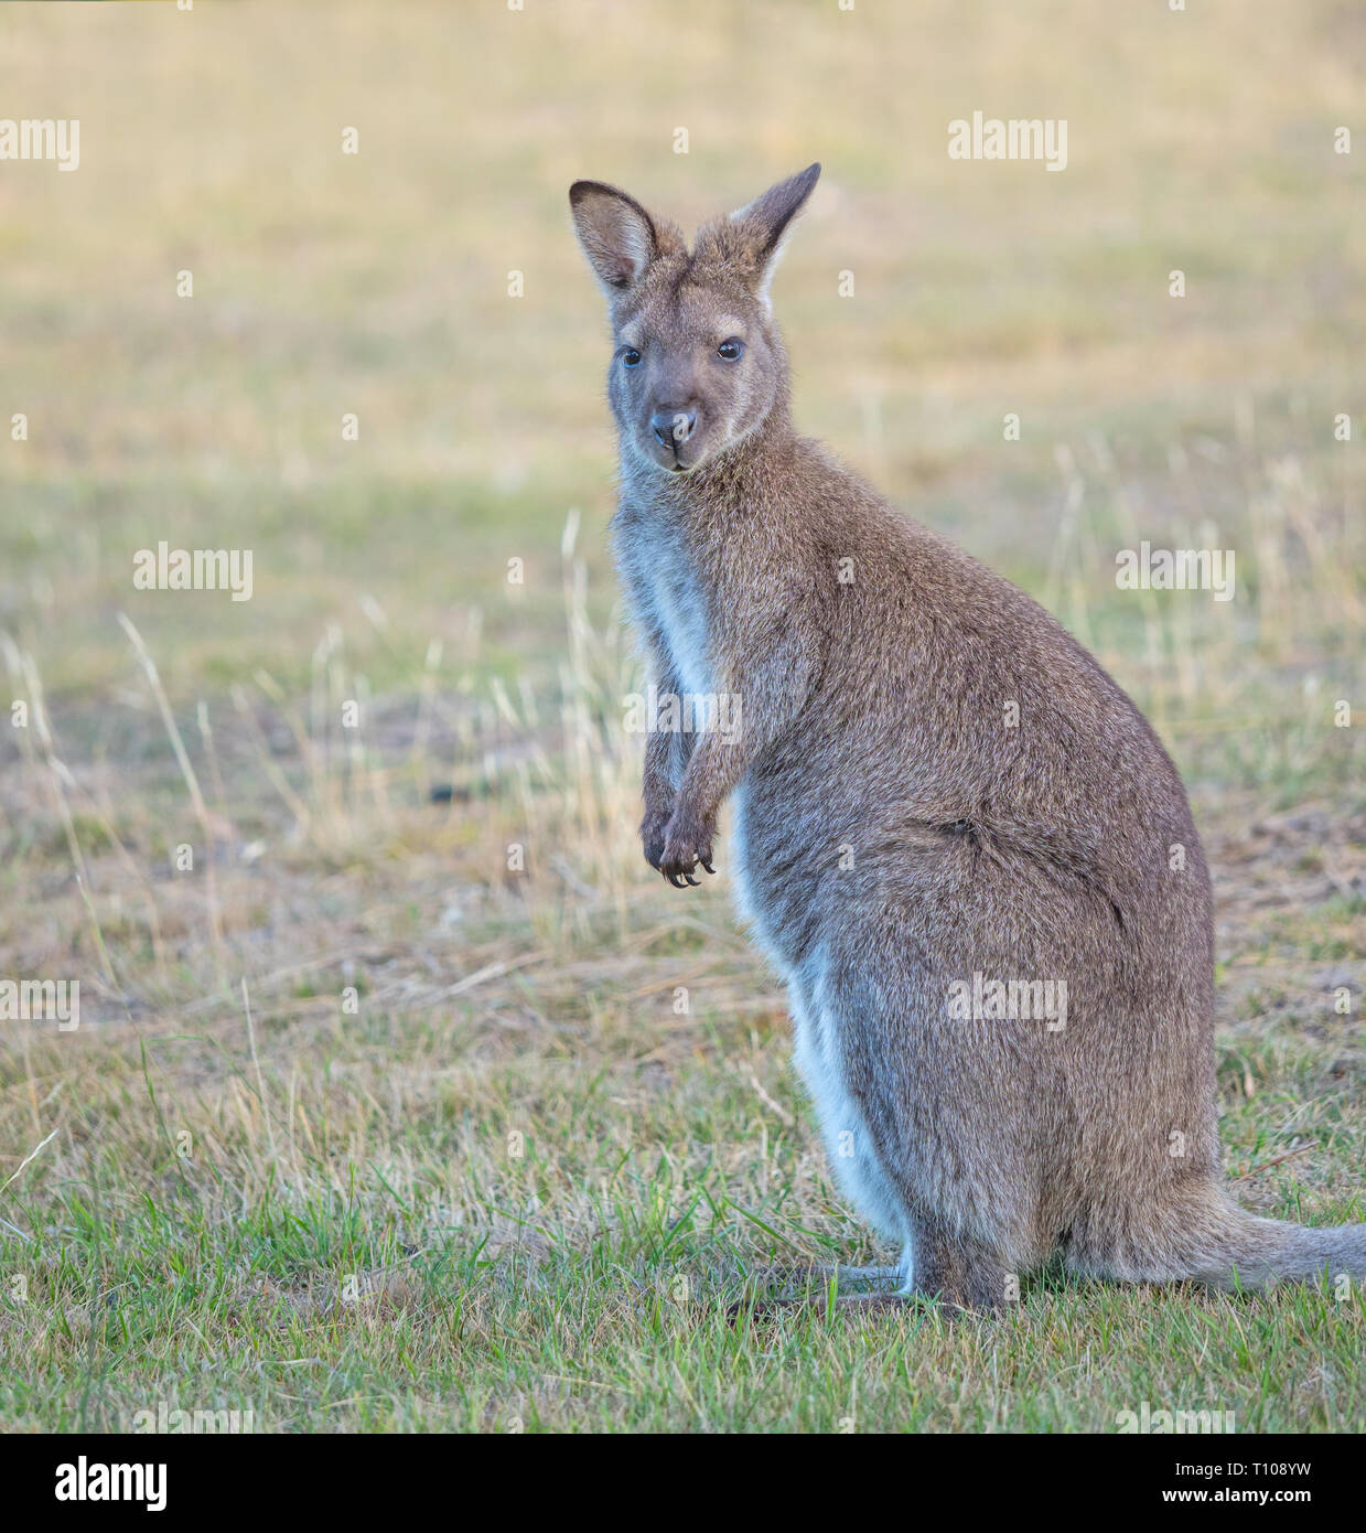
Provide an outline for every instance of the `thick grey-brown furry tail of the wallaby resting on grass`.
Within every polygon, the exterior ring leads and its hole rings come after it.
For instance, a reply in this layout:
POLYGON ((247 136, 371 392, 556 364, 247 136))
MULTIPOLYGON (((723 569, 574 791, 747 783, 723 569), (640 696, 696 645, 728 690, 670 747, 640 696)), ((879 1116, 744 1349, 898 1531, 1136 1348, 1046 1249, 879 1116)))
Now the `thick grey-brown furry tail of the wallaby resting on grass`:
MULTIPOLYGON (((1099 1234, 1099 1231, 1095 1231, 1099 1234)), ((1311 1228, 1249 1214, 1217 1183, 1191 1188, 1156 1214, 1092 1245, 1090 1271, 1131 1282, 1266 1288, 1277 1280, 1366 1282, 1366 1225, 1311 1228)))

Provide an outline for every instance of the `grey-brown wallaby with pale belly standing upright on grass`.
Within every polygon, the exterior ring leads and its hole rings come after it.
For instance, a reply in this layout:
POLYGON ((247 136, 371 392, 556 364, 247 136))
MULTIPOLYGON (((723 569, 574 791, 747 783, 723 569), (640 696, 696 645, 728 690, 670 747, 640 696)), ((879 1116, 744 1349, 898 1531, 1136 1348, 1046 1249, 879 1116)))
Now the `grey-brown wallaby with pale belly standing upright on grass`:
POLYGON ((1210 877, 1148 722, 1029 596, 793 428, 770 282, 819 175, 691 250, 615 187, 569 192, 658 696, 740 704, 739 728, 650 734, 645 857, 711 872, 730 797, 737 903, 836 1177, 903 1248, 892 1298, 995 1308, 1058 1251, 1121 1280, 1366 1275, 1366 1225, 1225 1191, 1210 877))

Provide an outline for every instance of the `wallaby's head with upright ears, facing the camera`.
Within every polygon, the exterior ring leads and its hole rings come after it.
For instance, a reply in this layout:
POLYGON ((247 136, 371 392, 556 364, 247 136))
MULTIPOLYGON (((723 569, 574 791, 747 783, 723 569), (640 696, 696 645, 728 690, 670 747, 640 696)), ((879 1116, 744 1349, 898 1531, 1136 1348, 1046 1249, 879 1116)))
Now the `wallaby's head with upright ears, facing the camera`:
POLYGON ((742 442, 786 402, 786 357, 768 305, 783 235, 820 166, 682 231, 601 181, 569 205, 612 316, 607 397, 627 449, 687 474, 742 442))

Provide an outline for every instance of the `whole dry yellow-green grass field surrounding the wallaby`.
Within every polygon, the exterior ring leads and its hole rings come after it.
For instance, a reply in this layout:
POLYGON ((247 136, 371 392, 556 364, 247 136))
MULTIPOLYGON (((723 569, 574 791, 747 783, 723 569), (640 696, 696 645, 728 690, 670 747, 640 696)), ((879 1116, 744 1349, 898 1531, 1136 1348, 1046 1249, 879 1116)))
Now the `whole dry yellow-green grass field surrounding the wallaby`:
POLYGON ((639 857, 566 205, 694 222, 825 162, 774 288, 799 420, 1153 719, 1237 1194, 1360 1220, 1363 69, 1328 0, 5 6, 0 110, 81 162, 0 162, 0 977, 81 1019, 0 1023, 0 1426, 1366 1427, 1360 1291, 728 1325, 888 1252, 724 837, 705 891, 639 857), (1067 118, 1066 172, 951 161, 978 109, 1067 118), (251 549, 253 598, 135 589, 159 540, 251 549), (1236 599, 1118 590, 1141 540, 1236 550, 1236 599))

